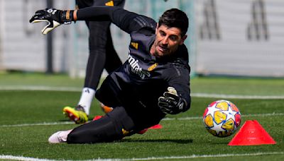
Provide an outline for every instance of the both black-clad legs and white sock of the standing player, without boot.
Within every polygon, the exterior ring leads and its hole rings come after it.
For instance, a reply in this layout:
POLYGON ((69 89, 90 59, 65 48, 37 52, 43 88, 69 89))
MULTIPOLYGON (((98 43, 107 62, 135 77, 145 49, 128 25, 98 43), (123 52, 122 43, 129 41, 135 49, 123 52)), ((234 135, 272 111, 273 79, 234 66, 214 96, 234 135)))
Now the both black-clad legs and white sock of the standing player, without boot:
MULTIPOLYGON (((106 6, 108 0, 94 1, 93 6, 106 6)), ((114 1, 114 6, 124 6, 124 0, 114 1)), ((121 60, 117 55, 111 40, 109 30, 110 22, 89 22, 89 58, 87 62, 84 88, 78 105, 84 107, 84 111, 89 114, 89 108, 97 90, 102 71, 107 68, 110 73, 121 66, 121 60), (107 63, 106 63, 107 61, 107 63), (107 66, 105 66, 107 64, 107 66)))

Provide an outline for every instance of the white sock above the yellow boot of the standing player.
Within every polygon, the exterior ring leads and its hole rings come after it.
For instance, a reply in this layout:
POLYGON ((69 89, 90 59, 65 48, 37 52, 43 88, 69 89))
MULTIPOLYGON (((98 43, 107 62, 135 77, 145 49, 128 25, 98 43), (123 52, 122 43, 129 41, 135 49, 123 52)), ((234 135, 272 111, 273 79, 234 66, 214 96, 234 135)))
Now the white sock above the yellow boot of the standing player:
POLYGON ((84 107, 84 112, 86 112, 87 115, 89 115, 89 108, 91 107, 94 93, 96 93, 96 91, 92 88, 83 88, 82 90, 82 95, 78 105, 84 107))

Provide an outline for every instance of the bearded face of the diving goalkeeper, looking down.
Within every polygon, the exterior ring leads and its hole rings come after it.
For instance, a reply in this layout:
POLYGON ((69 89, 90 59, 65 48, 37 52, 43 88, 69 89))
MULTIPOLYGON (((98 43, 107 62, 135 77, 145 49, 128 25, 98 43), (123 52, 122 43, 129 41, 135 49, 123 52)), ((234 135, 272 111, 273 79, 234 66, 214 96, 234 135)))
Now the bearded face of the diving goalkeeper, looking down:
POLYGON ((187 37, 186 35, 182 37, 179 28, 168 28, 166 25, 157 27, 155 35, 155 42, 151 47, 151 54, 157 57, 173 54, 178 49, 178 46, 185 42, 187 37))

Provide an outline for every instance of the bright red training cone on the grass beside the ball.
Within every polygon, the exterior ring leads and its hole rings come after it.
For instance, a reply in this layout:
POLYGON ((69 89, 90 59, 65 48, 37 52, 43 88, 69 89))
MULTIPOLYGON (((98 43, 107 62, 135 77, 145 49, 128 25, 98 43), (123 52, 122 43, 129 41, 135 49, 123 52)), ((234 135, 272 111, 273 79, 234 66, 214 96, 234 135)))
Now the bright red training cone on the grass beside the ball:
POLYGON ((262 145, 275 144, 273 138, 256 120, 248 120, 228 145, 262 145))

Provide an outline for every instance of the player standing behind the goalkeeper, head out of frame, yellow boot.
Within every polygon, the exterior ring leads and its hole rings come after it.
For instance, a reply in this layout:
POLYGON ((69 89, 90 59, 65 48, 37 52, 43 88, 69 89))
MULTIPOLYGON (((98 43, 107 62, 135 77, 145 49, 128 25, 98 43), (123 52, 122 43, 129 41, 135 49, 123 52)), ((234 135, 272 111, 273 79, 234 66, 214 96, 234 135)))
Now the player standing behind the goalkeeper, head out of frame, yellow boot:
MULTIPOLYGON (((89 6, 119 6, 123 8, 124 2, 125 0, 76 0, 76 6, 77 8, 86 8, 89 6)), ((75 108, 63 108, 64 114, 77 124, 88 121, 89 109, 104 68, 108 73, 111 73, 122 65, 112 43, 110 32, 111 22, 89 20, 85 22, 89 28, 89 58, 86 77, 84 79, 84 88, 80 101, 75 108)))

